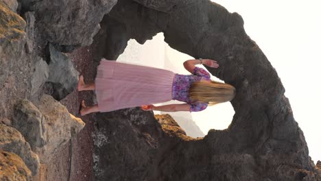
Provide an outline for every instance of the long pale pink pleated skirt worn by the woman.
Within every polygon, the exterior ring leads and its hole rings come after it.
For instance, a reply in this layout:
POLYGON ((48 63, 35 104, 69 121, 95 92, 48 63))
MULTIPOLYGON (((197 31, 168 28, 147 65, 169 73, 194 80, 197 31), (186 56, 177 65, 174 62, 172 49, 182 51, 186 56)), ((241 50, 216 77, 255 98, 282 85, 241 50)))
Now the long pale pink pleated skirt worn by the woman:
POLYGON ((102 59, 95 79, 100 112, 170 101, 172 71, 102 59))

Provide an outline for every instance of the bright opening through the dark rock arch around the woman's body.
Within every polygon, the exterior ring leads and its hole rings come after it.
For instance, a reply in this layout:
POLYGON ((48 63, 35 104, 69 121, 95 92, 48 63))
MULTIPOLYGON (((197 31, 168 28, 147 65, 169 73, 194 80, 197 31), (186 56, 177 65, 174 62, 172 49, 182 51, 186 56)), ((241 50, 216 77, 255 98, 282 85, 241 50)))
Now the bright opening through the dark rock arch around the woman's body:
MULTIPOLYGON (((163 33, 159 33, 152 40, 140 45, 136 40, 129 40, 125 51, 117 58, 117 62, 130 62, 160 69, 167 69, 180 74, 190 74, 182 66, 191 56, 176 51, 164 42, 163 33)), ((198 65, 203 67, 202 65, 198 65)), ((211 75, 212 80, 222 82, 211 75)), ((169 101, 164 104, 180 104, 180 101, 169 101)), ((188 136, 203 137, 211 129, 224 130, 228 128, 235 114, 230 102, 209 106, 200 112, 159 112, 154 114, 170 114, 188 136)))

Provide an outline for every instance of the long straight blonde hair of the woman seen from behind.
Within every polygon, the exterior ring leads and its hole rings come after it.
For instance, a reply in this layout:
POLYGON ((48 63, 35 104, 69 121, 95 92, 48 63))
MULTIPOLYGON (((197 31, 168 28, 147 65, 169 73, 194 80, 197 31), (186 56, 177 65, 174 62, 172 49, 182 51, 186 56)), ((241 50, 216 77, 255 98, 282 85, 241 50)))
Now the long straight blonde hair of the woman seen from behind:
POLYGON ((235 87, 216 81, 201 80, 191 84, 189 98, 193 103, 208 103, 209 106, 230 101, 235 97, 235 87))

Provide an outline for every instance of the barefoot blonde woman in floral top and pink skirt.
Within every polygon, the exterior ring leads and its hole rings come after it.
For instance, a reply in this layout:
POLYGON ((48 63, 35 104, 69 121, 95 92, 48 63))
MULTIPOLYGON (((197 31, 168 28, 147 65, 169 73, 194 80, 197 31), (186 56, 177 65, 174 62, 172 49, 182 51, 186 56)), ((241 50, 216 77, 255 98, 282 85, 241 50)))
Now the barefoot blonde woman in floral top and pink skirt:
POLYGON ((211 81, 209 73, 195 67, 195 64, 219 67, 215 60, 187 60, 184 67, 193 75, 180 75, 164 69, 102 59, 95 83, 85 84, 84 77, 80 75, 77 90, 95 90, 98 102, 94 106, 86 106, 82 101, 80 114, 141 105, 147 105, 141 107, 143 110, 195 112, 233 99, 233 86, 211 81), (152 105, 171 99, 184 101, 185 104, 152 105))

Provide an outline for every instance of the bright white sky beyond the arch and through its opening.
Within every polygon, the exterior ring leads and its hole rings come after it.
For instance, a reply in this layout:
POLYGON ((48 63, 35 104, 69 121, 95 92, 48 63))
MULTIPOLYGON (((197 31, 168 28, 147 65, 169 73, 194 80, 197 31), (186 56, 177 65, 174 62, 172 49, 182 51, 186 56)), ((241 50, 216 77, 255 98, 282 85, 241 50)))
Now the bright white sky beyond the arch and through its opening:
MULTIPOLYGON (((321 160, 321 1, 218 0, 229 12, 243 17, 246 33, 254 40, 278 72, 285 95, 289 98, 294 118, 305 134, 309 155, 321 160)), ((117 61, 134 62, 189 74, 182 62, 190 59, 163 43, 163 34, 139 45, 128 42, 117 61), (164 59, 172 65, 168 67, 164 59)), ((207 134, 210 129, 222 130, 233 119, 229 103, 193 112, 193 120, 207 134)))

